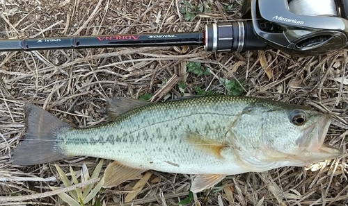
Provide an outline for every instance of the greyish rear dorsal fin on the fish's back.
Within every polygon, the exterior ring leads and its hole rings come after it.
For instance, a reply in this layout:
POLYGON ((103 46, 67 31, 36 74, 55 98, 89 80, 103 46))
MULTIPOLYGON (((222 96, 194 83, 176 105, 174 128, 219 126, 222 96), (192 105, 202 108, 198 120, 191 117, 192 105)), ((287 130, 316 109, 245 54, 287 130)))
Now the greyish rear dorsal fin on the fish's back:
POLYGON ((129 110, 133 110, 135 108, 140 108, 144 105, 148 105, 151 102, 141 101, 134 98, 127 97, 114 97, 109 98, 106 102, 106 114, 109 119, 115 120, 120 114, 123 114, 129 110))

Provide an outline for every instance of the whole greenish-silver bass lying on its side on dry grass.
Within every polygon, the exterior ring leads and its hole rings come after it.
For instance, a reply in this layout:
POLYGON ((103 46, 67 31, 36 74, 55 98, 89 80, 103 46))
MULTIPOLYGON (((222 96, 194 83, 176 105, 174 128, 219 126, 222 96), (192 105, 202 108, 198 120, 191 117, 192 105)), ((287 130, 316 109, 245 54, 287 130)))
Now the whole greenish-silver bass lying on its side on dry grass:
POLYGON ((90 156, 113 160, 104 187, 148 170, 193 175, 191 191, 227 175, 305 166, 340 157, 324 144, 330 114, 303 105, 247 96, 195 96, 163 103, 111 98, 113 121, 76 128, 26 103, 26 137, 13 164, 28 166, 90 156))

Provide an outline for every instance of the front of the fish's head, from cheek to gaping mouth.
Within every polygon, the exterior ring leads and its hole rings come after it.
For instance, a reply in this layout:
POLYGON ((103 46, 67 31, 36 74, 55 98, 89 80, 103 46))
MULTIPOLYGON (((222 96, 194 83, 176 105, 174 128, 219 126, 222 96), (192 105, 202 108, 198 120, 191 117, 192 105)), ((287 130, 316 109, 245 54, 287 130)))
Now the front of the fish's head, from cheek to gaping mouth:
POLYGON ((324 144, 332 120, 329 114, 286 105, 267 112, 266 116, 262 141, 271 157, 284 157, 301 166, 342 155, 338 148, 324 144))

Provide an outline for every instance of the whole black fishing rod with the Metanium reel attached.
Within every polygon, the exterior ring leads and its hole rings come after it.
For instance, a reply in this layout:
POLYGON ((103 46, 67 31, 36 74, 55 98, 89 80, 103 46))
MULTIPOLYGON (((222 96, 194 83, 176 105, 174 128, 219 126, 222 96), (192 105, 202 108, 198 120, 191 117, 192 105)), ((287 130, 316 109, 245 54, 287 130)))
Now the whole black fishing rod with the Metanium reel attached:
POLYGON ((348 0, 245 0, 242 20, 192 33, 150 33, 0 40, 0 51, 139 46, 204 46, 205 51, 280 49, 319 55, 348 48, 348 0))

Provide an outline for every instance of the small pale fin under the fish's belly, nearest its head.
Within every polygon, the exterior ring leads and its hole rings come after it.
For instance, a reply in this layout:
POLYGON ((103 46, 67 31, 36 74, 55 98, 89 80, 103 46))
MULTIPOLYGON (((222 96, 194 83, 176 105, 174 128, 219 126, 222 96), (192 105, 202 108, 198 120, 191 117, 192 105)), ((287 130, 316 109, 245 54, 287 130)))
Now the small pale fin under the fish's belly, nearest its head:
POLYGON ((225 177, 226 175, 197 175, 191 183, 191 191, 198 193, 204 189, 214 187, 225 177))

